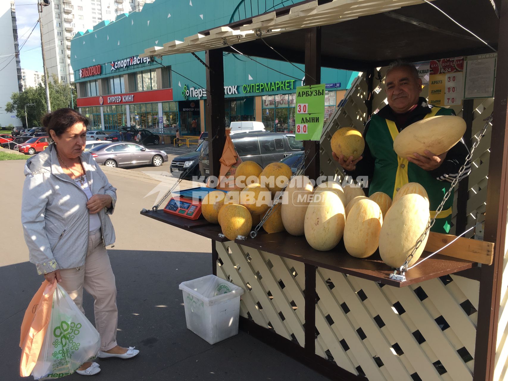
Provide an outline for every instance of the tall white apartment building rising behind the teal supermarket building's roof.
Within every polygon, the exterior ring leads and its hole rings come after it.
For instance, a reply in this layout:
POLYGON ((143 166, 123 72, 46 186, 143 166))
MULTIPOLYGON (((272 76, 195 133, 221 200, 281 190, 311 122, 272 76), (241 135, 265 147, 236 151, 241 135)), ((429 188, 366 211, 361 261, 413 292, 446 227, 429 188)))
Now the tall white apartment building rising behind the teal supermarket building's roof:
POLYGON ((46 66, 50 77, 74 83, 71 67, 71 40, 79 31, 101 21, 114 20, 122 13, 140 11, 154 0, 54 0, 43 8, 42 25, 46 66))

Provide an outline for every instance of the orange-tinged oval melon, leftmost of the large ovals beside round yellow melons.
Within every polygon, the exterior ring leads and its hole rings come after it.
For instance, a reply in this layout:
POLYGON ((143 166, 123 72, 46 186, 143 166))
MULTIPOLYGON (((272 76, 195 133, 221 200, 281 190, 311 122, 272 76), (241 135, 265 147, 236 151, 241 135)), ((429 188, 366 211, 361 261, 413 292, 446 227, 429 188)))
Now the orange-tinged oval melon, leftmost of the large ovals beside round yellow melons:
POLYGON ((312 196, 312 183, 307 176, 293 177, 282 195, 280 215, 284 229, 294 236, 304 234, 305 212, 312 196))

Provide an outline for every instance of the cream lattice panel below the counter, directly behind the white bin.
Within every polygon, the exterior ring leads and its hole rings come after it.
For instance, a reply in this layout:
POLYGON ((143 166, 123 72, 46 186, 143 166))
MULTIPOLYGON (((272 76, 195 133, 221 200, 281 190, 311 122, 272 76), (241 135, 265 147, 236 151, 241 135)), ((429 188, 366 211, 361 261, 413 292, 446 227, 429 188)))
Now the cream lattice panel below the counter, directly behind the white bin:
POLYGON ((217 276, 244 290, 240 315, 304 346, 304 264, 233 241, 216 248, 217 276))

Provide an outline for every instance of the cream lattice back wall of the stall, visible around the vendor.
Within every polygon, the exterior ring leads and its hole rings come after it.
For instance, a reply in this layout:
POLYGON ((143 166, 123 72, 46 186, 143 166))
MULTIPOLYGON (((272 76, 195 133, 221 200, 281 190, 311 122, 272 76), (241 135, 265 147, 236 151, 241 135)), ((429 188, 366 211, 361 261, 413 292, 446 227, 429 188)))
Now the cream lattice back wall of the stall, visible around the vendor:
MULTIPOLYGON (((372 111, 383 108, 387 105, 386 92, 385 92, 385 75, 387 68, 380 68, 376 71, 373 79, 373 88, 375 91, 372 95, 372 111)), ((421 96, 428 97, 429 86, 424 86, 421 96)), ((342 168, 332 158, 332 151, 330 148, 330 140, 339 128, 353 126, 357 130, 363 132, 364 123, 366 120, 367 108, 365 100, 367 99, 367 81, 366 76, 363 74, 358 77, 353 83, 352 87, 344 96, 344 103, 338 107, 335 113, 330 118, 330 121, 323 129, 320 146, 320 165, 321 175, 333 176, 337 175, 339 180, 343 179, 342 168)), ((473 114, 473 137, 478 136, 478 133, 484 126, 484 118, 488 117, 494 107, 493 98, 477 99, 474 100, 474 114, 473 114)), ((458 116, 462 117, 462 106, 451 107, 458 116)), ((490 157, 490 139, 491 130, 489 129, 483 137, 480 145, 473 156, 473 163, 471 164, 471 174, 469 175, 468 183, 468 202, 467 202, 467 229, 477 224, 478 221, 485 219, 485 206, 487 200, 487 182, 488 182, 488 169, 490 157), (478 220, 477 220, 478 218, 478 220)), ((457 195, 458 186, 455 188, 455 199, 453 204, 452 216, 452 229, 451 234, 455 234, 455 221, 457 218, 457 195)), ((461 233, 461 232, 459 232, 461 233)), ((469 232, 466 236, 471 237, 474 231, 469 232)))

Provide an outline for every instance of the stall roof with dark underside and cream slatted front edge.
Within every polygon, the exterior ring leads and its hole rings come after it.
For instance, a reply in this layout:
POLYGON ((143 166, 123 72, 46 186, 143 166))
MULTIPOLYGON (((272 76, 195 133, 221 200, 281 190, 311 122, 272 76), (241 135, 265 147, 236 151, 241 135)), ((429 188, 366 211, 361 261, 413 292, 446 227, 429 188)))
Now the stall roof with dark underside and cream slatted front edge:
MULTIPOLYGON (((497 48, 499 19, 490 0, 432 4, 497 48)), ((418 61, 492 52, 422 0, 314 0, 151 47, 141 56, 216 48, 234 52, 234 47, 251 56, 281 59, 260 39, 261 31, 266 43, 285 58, 303 63, 304 29, 312 26, 322 26, 322 66, 331 68, 362 70, 395 58, 418 61)))

